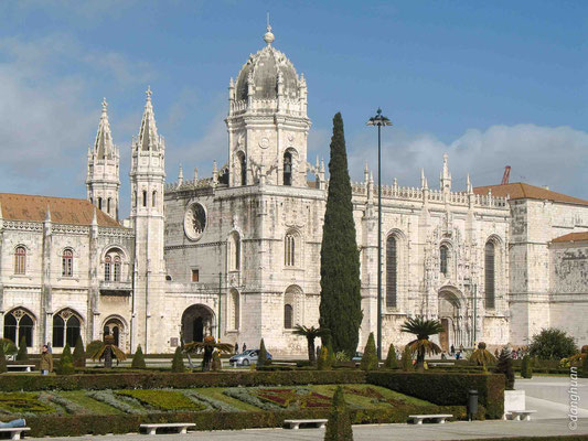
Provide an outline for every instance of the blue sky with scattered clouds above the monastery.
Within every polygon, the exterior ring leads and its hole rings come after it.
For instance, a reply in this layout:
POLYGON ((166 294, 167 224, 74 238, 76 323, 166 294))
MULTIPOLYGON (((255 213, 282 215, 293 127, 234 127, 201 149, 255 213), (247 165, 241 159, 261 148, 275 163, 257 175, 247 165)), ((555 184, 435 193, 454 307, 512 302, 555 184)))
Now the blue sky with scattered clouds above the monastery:
POLYGON ((455 189, 511 181, 588 200, 588 3, 585 1, 11 1, 0 3, 0 191, 85 197, 103 96, 120 147, 128 209, 130 140, 151 85, 178 166, 207 175, 227 157, 227 86, 261 49, 303 72, 309 159, 328 157, 343 114, 352 176, 375 168, 365 120, 382 106, 384 182, 455 189))

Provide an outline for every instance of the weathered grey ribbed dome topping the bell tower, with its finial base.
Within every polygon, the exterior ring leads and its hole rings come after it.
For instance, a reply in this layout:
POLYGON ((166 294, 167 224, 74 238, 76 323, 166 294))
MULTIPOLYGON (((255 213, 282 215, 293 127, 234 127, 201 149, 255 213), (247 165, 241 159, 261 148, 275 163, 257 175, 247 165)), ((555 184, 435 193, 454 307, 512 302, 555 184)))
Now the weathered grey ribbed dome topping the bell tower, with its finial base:
POLYGON ((274 34, 271 26, 267 26, 267 33, 264 35, 267 45, 258 51, 255 55, 249 55, 237 76, 235 87, 236 100, 246 100, 248 92, 248 80, 252 78, 255 85, 255 99, 276 99, 278 95, 278 75, 281 73, 284 80, 284 97, 293 99, 299 98, 298 75, 296 68, 288 57, 271 46, 274 34))

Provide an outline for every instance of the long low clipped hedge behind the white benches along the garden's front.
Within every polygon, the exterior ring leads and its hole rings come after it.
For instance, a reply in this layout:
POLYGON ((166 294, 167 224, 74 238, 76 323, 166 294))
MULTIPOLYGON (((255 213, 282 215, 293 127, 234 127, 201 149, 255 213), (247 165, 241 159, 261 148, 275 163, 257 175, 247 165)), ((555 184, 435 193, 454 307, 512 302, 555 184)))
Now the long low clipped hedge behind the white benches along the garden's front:
MULTIPOLYGON (((331 373, 332 374, 332 373, 331 373)), ((353 423, 391 423, 406 422, 407 411, 389 409, 382 410, 351 410, 353 423)), ((456 419, 466 419, 466 407, 448 406, 419 407, 424 412, 452 413, 456 419)), ((137 432, 143 423, 158 422, 194 422, 197 430, 239 430, 253 428, 282 427, 285 419, 317 419, 328 418, 329 409, 298 410, 276 412, 173 412, 150 415, 76 415, 76 416, 43 416, 26 418, 31 428, 31 437, 79 437, 84 434, 128 433, 137 432)))

